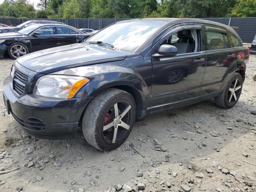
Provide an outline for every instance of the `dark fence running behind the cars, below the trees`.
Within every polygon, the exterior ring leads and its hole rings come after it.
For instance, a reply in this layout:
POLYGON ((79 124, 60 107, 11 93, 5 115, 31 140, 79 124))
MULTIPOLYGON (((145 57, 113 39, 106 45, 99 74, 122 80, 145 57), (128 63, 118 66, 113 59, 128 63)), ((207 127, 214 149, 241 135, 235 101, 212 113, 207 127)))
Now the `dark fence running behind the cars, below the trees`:
MULTIPOLYGON (((0 23, 17 26, 28 20, 52 20, 63 22, 67 25, 76 27, 76 28, 89 28, 93 30, 100 30, 112 23, 128 20, 129 18, 120 18, 120 19, 106 19, 106 18, 76 18, 76 19, 17 19, 17 18, 0 18, 0 23)), ((225 25, 239 27, 238 34, 240 35, 243 42, 251 43, 255 34, 256 34, 256 18, 203 18, 205 20, 211 20, 219 22, 225 25)))

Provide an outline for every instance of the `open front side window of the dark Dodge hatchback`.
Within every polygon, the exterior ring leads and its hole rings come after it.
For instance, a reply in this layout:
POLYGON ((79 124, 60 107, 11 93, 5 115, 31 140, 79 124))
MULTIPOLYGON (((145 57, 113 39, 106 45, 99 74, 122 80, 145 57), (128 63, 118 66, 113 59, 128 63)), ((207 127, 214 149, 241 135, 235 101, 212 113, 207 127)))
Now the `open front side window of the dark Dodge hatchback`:
POLYGON ((173 45, 177 48, 178 54, 200 51, 200 30, 181 30, 172 34, 163 44, 173 45))

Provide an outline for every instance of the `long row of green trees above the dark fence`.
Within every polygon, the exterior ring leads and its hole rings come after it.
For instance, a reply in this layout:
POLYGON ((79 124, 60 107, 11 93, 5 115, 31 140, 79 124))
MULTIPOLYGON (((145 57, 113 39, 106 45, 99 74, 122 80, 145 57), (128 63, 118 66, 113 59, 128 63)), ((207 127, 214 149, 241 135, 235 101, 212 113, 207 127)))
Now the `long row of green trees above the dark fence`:
POLYGON ((256 0, 4 0, 0 16, 25 18, 255 17, 256 0))

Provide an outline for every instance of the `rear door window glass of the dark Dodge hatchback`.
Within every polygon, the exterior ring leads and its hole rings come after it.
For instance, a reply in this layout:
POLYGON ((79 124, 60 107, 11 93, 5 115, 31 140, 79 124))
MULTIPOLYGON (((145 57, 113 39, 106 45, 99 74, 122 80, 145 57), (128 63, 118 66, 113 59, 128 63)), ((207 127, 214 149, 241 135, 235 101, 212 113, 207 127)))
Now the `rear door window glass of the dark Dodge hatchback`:
POLYGON ((230 48, 227 34, 218 31, 206 31, 206 50, 230 48))

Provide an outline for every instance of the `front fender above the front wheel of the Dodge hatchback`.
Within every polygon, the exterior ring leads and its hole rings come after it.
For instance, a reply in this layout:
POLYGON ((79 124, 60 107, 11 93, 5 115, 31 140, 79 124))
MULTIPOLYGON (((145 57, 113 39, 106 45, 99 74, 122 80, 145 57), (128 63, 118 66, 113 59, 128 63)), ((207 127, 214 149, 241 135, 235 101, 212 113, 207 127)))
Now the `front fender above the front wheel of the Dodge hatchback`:
MULTIPOLYGON (((60 72, 55 72, 54 74, 59 73, 60 72)), ((148 90, 145 79, 136 70, 120 64, 120 61, 70 68, 62 70, 61 74, 76 74, 90 79, 90 82, 85 84, 77 92, 76 98, 94 97, 107 88, 122 88, 122 86, 126 86, 136 89, 139 93, 142 101, 142 110, 146 110, 150 105, 150 91, 148 90)))

